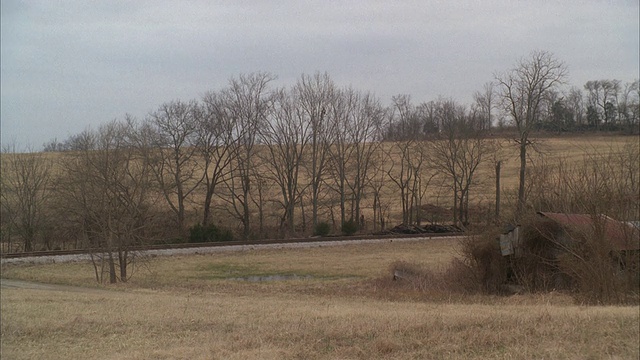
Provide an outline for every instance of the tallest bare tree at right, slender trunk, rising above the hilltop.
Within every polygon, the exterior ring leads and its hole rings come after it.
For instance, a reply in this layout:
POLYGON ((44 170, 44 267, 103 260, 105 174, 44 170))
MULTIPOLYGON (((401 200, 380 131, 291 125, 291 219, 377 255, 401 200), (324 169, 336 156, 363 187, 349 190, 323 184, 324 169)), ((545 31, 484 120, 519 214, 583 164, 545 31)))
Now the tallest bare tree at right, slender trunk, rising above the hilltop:
POLYGON ((502 105, 518 131, 520 180, 517 214, 522 212, 526 201, 527 149, 532 144, 531 132, 539 121, 540 106, 547 92, 561 84, 566 75, 567 68, 563 62, 549 52, 534 51, 529 58, 521 59, 515 68, 496 76, 502 105))

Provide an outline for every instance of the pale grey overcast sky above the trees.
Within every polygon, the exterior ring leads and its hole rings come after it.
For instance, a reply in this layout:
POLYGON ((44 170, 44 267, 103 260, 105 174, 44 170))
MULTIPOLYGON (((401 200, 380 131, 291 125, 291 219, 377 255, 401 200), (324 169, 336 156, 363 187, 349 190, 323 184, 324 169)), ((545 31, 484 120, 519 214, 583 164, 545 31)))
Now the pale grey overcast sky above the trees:
POLYGON ((532 50, 568 81, 639 77, 638 0, 1 2, 1 140, 36 149, 239 74, 327 72, 384 104, 468 104, 532 50))

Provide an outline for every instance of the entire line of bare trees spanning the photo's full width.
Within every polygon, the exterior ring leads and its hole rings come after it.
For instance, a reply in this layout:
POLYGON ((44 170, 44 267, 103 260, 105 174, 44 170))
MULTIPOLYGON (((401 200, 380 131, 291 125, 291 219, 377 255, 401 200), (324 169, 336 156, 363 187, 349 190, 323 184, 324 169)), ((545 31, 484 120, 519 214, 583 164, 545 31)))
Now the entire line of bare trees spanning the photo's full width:
POLYGON ((561 61, 535 51, 467 108, 453 99, 415 105, 409 95, 383 106, 326 73, 289 88, 272 87, 269 73, 240 75, 144 119, 127 115, 45 144, 55 156, 5 147, 2 242, 100 249, 96 278, 114 282, 130 276, 133 245, 184 239, 195 224, 237 229, 244 239, 308 234, 325 222, 379 230, 398 203, 405 224, 467 226, 480 166, 499 166, 491 134, 500 127, 517 134, 519 212, 533 132, 551 123, 637 132, 637 81, 588 82, 586 100, 573 107, 579 91, 560 91, 565 76, 561 61), (427 218, 434 189, 451 212, 427 218))

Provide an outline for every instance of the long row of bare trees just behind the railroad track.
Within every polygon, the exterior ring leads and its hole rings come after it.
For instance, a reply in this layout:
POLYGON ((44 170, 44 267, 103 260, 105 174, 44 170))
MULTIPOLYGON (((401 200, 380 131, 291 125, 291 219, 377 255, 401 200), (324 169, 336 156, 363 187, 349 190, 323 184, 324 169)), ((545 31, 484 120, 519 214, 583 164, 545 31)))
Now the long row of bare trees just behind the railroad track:
MULTIPOLYGON (((281 236, 326 221, 320 212, 327 207, 339 227, 362 218, 370 192, 375 206, 368 206, 378 226, 389 184, 400 193, 403 221, 419 222, 416 207, 438 174, 454 184, 454 221, 468 221, 464 209, 473 174, 492 141, 477 131, 463 106, 440 103, 444 128, 438 141, 414 137, 384 143, 384 124, 415 111, 408 97, 395 98, 388 109, 369 93, 337 88, 326 74, 303 75, 291 89, 270 89, 272 79, 265 73, 240 76, 199 101, 162 104, 142 122, 126 117, 86 130, 72 137, 71 151, 55 157, 4 156, 9 163, 42 162, 33 167, 45 172, 39 177, 47 181, 31 184, 42 193, 42 203, 52 191, 63 197, 68 221, 81 224, 89 234, 85 240, 100 247, 144 234, 153 223, 149 215, 158 209, 172 214, 175 236, 181 237, 194 213, 207 225, 214 210, 216 218, 236 219, 245 238, 252 231, 264 233, 266 207, 277 209, 281 236), (94 233, 99 240, 91 239, 94 233)), ((18 196, 11 182, 20 170, 7 170, 4 208, 20 213, 10 206, 18 196)), ((36 206, 44 213, 44 205, 36 206)), ((29 244, 25 250, 32 249, 29 244)))

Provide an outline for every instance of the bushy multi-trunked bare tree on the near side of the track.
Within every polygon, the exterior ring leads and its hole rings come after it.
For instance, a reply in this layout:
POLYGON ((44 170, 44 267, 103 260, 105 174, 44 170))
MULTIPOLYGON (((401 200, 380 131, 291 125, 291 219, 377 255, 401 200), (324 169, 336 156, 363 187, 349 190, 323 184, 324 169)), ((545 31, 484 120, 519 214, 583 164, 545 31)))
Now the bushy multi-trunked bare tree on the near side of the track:
POLYGON ((60 193, 69 219, 92 249, 96 281, 127 281, 135 270, 132 246, 153 227, 151 172, 134 146, 132 122, 113 121, 87 131, 85 149, 63 162, 60 193), (92 144, 92 145, 90 145, 92 144), (106 269, 105 269, 106 267, 106 269))

